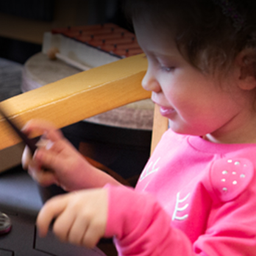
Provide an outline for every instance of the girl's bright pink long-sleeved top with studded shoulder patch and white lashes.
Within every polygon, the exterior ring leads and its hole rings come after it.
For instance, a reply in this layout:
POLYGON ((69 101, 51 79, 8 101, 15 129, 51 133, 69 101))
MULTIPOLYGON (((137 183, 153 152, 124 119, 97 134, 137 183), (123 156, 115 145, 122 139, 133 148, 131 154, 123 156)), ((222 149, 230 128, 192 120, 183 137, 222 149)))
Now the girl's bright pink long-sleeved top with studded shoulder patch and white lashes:
POLYGON ((168 130, 135 190, 108 187, 119 255, 256 255, 256 144, 168 130))

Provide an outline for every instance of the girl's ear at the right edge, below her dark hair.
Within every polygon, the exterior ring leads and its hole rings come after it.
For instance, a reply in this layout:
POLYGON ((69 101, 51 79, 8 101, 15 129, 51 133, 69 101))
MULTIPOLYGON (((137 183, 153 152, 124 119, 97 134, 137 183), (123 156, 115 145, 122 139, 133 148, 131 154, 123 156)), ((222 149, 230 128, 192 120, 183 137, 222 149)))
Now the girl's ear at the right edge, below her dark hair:
POLYGON ((255 49, 244 49, 235 59, 238 71, 239 87, 252 90, 256 87, 256 52, 255 49))

